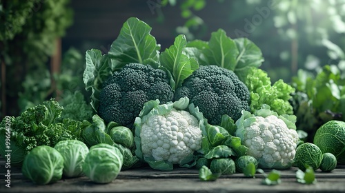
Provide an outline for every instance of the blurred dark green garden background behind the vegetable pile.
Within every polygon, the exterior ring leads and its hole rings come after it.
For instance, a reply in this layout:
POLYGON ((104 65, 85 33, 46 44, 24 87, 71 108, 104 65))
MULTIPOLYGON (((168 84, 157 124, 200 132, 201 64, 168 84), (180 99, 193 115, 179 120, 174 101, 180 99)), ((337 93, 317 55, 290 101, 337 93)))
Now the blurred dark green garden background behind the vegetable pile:
POLYGON ((63 103, 75 90, 87 94, 86 50, 108 52, 129 17, 152 27, 161 51, 177 34, 208 40, 222 28, 248 37, 272 81, 326 64, 345 69, 345 0, 0 0, 0 117, 50 97, 63 103))

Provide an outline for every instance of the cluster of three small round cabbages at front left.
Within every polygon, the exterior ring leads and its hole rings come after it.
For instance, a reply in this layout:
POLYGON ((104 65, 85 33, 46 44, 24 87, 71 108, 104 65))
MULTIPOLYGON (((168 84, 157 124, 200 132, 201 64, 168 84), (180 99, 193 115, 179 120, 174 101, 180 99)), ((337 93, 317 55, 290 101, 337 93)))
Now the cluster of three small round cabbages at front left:
POLYGON ((32 149, 23 161, 23 175, 39 185, 55 183, 62 176, 85 174, 95 183, 110 183, 119 174, 124 158, 118 148, 106 143, 90 147, 77 140, 59 141, 32 149))

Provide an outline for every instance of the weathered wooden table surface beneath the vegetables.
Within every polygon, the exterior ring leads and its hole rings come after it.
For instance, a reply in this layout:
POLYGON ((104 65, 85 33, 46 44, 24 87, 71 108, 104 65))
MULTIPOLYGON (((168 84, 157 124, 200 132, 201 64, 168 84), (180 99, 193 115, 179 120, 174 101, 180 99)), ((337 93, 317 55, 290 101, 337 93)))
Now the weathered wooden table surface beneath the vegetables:
MULTIPOLYGON (((0 159, 0 192, 345 192, 345 165, 338 165, 333 172, 315 172, 317 183, 297 183, 296 167, 282 171, 282 183, 262 185, 263 174, 255 179, 243 174, 223 175, 217 181, 200 181, 196 169, 175 168, 172 172, 161 172, 149 167, 120 172, 117 179, 108 184, 90 182, 86 176, 77 179, 61 179, 50 185, 35 185, 21 174, 20 167, 11 165, 10 188, 6 187, 5 161, 0 159)), ((270 170, 266 170, 270 172, 270 170)))

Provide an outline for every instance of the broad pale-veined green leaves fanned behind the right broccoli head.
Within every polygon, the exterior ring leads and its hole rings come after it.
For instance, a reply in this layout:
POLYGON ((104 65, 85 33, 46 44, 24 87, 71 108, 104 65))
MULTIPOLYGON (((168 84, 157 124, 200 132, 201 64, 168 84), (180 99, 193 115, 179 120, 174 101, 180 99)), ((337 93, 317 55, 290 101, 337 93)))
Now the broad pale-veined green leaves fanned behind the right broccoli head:
POLYGON ((231 39, 224 30, 217 30, 211 34, 209 41, 190 41, 189 54, 195 57, 199 65, 218 65, 232 70, 240 80, 246 76, 250 67, 259 68, 264 61, 261 50, 246 38, 231 39))

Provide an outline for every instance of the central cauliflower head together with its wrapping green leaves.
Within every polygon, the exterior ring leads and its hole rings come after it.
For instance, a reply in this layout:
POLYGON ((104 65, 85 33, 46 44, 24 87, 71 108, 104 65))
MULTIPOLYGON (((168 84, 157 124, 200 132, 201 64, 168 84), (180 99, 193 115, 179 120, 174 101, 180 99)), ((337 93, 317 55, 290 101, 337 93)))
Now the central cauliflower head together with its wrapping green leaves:
POLYGON ((174 164, 192 167, 205 123, 188 97, 164 104, 148 101, 135 119, 135 154, 155 170, 169 171, 174 164))

